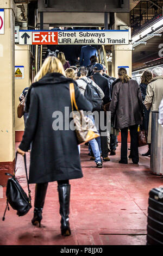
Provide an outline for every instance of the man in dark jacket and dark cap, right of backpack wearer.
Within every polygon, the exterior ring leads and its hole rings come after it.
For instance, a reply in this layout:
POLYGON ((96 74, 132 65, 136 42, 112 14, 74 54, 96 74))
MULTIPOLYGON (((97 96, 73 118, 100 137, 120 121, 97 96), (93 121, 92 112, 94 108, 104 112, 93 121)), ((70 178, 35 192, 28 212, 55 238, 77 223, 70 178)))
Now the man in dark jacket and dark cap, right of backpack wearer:
MULTIPOLYGON (((110 88, 109 88, 109 81, 106 77, 104 77, 103 74, 103 65, 102 64, 95 64, 93 66, 94 75, 90 76, 90 78, 102 89, 104 93, 103 97, 103 104, 109 103, 111 101, 110 97, 110 88)), ((101 111, 104 111, 101 109, 101 111)), ((106 126, 106 115, 104 118, 104 124, 106 126)), ((99 120, 99 132, 106 133, 105 136, 101 136, 101 150, 102 150, 102 156, 104 161, 110 161, 108 157, 109 149, 108 149, 108 136, 107 136, 107 129, 101 130, 101 122, 99 120)))

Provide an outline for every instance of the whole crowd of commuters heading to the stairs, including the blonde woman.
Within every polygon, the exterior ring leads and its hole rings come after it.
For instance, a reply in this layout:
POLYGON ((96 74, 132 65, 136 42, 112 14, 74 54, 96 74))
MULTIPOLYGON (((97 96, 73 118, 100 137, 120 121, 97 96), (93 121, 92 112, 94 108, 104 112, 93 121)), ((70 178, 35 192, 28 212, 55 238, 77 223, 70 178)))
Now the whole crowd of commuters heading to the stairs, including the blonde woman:
MULTIPOLYGON (((83 54, 87 48, 90 46, 83 48, 83 54)), ((127 75, 125 68, 118 70, 117 79, 106 74, 105 66, 98 63, 96 48, 92 48, 93 55, 89 57, 90 61, 80 60, 82 65, 79 68, 74 63, 68 62, 64 52, 59 52, 57 57, 47 57, 36 74, 32 86, 24 89, 20 96, 20 101, 26 97, 28 118, 23 139, 17 151, 24 155, 32 143, 29 183, 36 184, 32 224, 40 224, 42 220, 48 182, 57 181, 62 235, 71 234, 68 217, 71 187, 69 180, 83 176, 80 166, 80 147, 75 131, 52 129, 52 117, 55 117, 55 111, 65 116, 65 107, 68 107, 65 122, 70 125, 72 121, 70 83, 74 84, 75 100, 79 111, 89 111, 87 117, 94 124, 93 105, 85 96, 87 86, 95 88, 103 102, 102 106, 97 109, 104 116, 103 119, 98 120, 100 137, 91 139, 88 145, 88 155, 91 156, 90 160, 95 160, 97 168, 102 168, 103 162, 110 161, 109 151, 110 155, 116 154, 117 135, 120 131, 121 159, 119 163, 128 163, 128 130, 130 130, 131 138, 129 157, 134 164, 139 163, 137 139, 139 125, 141 129, 148 131, 149 150, 144 155, 150 155, 151 111, 159 109, 163 98, 161 68, 154 68, 152 73, 148 70, 144 71, 139 86, 127 75), (110 133, 108 133, 105 113, 108 110, 111 112, 110 133)), ((161 104, 163 105, 162 102, 161 104)), ((162 105, 160 109, 163 108, 162 105)), ((162 119, 160 115, 160 121, 162 119)))

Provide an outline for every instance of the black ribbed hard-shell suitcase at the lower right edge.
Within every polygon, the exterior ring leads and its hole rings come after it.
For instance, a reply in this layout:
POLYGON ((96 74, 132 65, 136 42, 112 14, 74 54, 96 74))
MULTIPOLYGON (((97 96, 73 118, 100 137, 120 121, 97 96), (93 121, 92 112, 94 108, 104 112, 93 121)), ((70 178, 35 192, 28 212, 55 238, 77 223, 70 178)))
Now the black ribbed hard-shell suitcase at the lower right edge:
POLYGON ((163 188, 149 192, 147 245, 163 245, 163 188))

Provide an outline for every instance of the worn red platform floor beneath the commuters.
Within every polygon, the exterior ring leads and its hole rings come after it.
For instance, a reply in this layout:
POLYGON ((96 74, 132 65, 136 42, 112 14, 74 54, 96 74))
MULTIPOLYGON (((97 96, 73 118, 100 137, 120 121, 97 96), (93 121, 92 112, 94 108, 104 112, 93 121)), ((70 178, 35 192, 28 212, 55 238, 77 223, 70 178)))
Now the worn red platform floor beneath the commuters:
MULTIPOLYGON (((147 147, 140 151, 139 164, 118 164, 117 154, 104 168, 95 168, 82 146, 81 159, 84 178, 71 180, 70 225, 72 235, 60 235, 60 215, 57 182, 49 183, 41 228, 30 221, 33 209, 18 217, 16 211, 7 211, 6 220, 0 221, 0 245, 145 245, 147 227, 148 193, 162 185, 162 179, 149 170, 149 157, 142 157, 147 147)), ((128 153, 129 154, 129 153, 128 153)), ((29 153, 27 162, 29 168, 29 153)), ((23 159, 19 155, 16 176, 27 192, 23 159)), ((34 184, 32 204, 34 204, 34 184)), ((5 194, 5 188, 3 188, 5 194)), ((3 216, 5 196, 0 199, 3 216)))

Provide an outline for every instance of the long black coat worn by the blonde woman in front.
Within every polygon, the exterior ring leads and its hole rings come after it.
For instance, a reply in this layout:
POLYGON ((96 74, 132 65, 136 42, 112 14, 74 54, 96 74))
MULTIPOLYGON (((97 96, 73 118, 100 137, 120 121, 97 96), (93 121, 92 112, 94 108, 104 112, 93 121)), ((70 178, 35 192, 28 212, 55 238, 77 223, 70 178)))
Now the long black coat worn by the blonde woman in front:
POLYGON ((54 118, 54 111, 60 111, 64 118, 65 107, 69 107, 66 124, 70 124, 72 120, 69 118, 72 111, 70 82, 74 83, 78 108, 92 111, 92 104, 80 93, 76 82, 59 73, 47 74, 29 89, 26 103, 29 115, 19 146, 21 150, 27 151, 32 142, 29 183, 77 179, 83 176, 75 131, 64 127, 63 130, 53 130, 54 121, 57 123, 58 118, 54 118))

